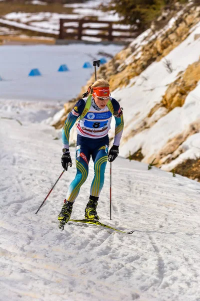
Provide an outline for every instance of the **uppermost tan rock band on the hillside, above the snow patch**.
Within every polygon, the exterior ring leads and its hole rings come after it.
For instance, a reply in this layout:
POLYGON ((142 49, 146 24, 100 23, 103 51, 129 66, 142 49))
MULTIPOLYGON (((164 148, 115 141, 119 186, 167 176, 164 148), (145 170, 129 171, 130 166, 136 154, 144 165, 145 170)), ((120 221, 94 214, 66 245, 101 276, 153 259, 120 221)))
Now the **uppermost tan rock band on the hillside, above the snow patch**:
POLYGON ((99 69, 98 77, 106 78, 110 83, 111 90, 128 85, 130 79, 138 76, 154 61, 165 57, 185 40, 190 29, 199 20, 199 8, 185 9, 171 28, 165 27, 156 33, 149 30, 147 37, 141 41, 140 45, 134 45, 133 42, 128 48, 120 51, 99 69), (145 42, 147 40, 149 42, 145 42))

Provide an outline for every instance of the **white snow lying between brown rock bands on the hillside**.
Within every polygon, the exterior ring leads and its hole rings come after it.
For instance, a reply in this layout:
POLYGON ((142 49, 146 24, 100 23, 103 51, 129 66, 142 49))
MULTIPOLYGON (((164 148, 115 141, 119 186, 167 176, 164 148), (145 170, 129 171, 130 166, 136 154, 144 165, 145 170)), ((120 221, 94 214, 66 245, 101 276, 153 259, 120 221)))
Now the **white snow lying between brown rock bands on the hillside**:
MULTIPOLYGON (((199 83, 188 93, 182 107, 175 107, 169 113, 162 107, 148 118, 150 110, 161 102, 168 85, 177 78, 178 73, 184 72, 189 64, 199 60, 200 37, 195 38, 199 33, 200 23, 196 24, 190 30, 189 36, 167 56, 159 62, 150 64, 138 77, 132 78, 128 86, 112 92, 111 96, 119 99, 123 107, 125 128, 120 144, 122 156, 127 158, 129 152, 134 154, 141 148, 143 162, 151 161, 152 156, 156 158, 156 154, 161 152, 169 139, 187 131, 192 123, 199 122, 199 83), (171 73, 164 66, 166 60, 171 62, 173 68, 171 73), (151 126, 153 121, 157 122, 151 126), (146 122, 146 128, 133 136, 131 132, 142 128, 144 122, 146 122)), ((126 59, 127 64, 129 59, 131 60, 131 57, 126 59)), ((112 130, 112 135, 113 133, 112 130)), ((199 139, 197 136, 193 136, 192 139, 198 145, 197 152, 199 153, 199 139)), ((195 156, 190 159, 195 159, 195 156)), ((177 162, 178 160, 176 165, 177 162)), ((163 166, 163 168, 171 170, 171 165, 163 166)))

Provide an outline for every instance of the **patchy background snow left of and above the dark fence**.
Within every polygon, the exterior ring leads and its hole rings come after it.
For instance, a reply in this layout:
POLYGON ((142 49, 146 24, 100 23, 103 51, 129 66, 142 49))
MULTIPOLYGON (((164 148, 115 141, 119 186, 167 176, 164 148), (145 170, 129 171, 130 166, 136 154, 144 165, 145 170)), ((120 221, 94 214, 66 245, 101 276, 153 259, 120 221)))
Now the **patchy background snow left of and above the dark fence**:
MULTIPOLYGON (((105 5, 107 0, 103 2, 105 5)), ((34 0, 29 2, 33 5, 46 5, 46 3, 34 0)), ((0 23, 4 25, 14 26, 21 29, 33 30, 39 33, 48 33, 58 35, 59 33, 59 20, 60 19, 73 19, 78 20, 84 17, 97 17, 99 21, 119 21, 118 14, 114 14, 112 11, 102 12, 99 9, 101 0, 88 1, 85 3, 65 4, 63 7, 72 8, 71 14, 58 14, 50 12, 39 13, 24 13, 24 12, 12 12, 2 16, 0 23)), ((42 7, 41 7, 42 11, 42 7)), ((124 28, 121 26, 120 28, 124 28)), ((127 29, 130 26, 126 26, 127 29)), ((1 31, 1 29, 0 29, 1 31)), ((89 31, 85 31, 89 33, 89 31)), ((96 34, 97 31, 92 30, 92 34, 96 34)), ((84 37, 84 40, 99 41, 95 37, 84 37)))

